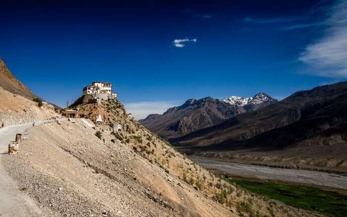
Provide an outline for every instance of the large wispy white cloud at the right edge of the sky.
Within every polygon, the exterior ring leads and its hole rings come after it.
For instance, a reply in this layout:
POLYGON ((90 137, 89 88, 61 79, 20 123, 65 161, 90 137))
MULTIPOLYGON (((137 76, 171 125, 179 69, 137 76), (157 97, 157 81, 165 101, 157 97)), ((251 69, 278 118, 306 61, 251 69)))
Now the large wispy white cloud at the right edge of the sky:
POLYGON ((299 61, 310 67, 309 73, 347 77, 347 0, 338 1, 328 13, 324 36, 307 45, 299 61))

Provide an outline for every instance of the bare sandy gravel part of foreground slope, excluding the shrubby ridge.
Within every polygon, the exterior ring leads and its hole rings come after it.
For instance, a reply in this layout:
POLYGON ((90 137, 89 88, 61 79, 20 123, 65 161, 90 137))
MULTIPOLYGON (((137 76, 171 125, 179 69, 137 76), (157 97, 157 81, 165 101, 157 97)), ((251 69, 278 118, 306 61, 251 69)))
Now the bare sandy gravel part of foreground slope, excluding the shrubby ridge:
POLYGON ((21 180, 20 187, 27 189, 43 212, 53 216, 101 216, 104 211, 109 216, 131 217, 235 216, 221 205, 210 208, 215 202, 187 184, 180 182, 180 187, 177 177, 135 154, 131 146, 103 143, 81 120, 61 123, 32 128, 19 154, 6 156, 9 173, 21 180))

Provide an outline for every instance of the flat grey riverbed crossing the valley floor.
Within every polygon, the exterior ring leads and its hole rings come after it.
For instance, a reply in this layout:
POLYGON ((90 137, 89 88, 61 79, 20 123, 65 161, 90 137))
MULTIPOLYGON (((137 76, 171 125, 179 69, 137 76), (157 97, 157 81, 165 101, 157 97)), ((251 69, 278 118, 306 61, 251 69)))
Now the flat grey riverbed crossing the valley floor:
POLYGON ((332 173, 255 166, 195 156, 189 156, 189 158, 205 168, 217 169, 239 176, 254 176, 261 179, 283 180, 347 189, 347 177, 332 173))

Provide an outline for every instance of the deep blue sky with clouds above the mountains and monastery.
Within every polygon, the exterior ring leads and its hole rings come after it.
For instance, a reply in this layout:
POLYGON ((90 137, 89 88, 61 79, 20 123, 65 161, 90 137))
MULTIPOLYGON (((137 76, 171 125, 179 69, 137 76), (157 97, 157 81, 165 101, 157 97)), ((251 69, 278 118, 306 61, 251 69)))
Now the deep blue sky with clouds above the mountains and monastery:
POLYGON ((112 82, 138 119, 188 98, 266 92, 282 99, 347 77, 346 0, 1 6, 0 57, 62 107, 93 80, 112 82))

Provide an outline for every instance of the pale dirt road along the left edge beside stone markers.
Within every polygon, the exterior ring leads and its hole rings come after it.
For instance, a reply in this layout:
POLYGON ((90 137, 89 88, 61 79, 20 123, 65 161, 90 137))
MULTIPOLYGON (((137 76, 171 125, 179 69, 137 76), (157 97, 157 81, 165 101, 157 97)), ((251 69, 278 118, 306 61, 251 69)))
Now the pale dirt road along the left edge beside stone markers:
POLYGON ((0 129, 0 217, 32 217, 42 215, 35 203, 18 190, 2 164, 2 158, 4 154, 7 154, 8 144, 15 140, 17 133, 24 134, 31 126, 32 124, 22 124, 0 129))

